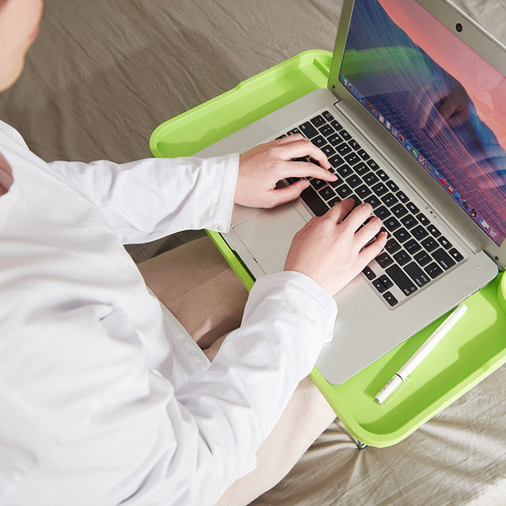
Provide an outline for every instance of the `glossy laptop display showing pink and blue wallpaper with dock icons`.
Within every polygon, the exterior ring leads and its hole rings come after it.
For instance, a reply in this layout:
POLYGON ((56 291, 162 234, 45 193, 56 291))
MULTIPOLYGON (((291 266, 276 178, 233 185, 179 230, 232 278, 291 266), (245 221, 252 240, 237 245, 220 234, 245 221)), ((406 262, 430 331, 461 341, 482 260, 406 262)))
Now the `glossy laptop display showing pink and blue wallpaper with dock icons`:
POLYGON ((339 79, 500 245, 506 78, 414 0, 356 0, 339 79))

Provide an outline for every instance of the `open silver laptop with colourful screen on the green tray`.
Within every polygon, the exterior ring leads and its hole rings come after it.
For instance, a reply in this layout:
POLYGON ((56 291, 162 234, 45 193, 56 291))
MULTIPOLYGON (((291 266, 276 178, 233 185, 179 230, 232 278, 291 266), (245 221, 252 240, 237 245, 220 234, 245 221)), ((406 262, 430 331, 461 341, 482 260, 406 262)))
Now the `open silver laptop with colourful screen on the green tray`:
MULTIPOLYGON (((344 0, 326 89, 198 153, 242 152, 300 132, 336 183, 310 180, 274 209, 236 205, 227 245, 257 278, 293 235, 353 197, 389 233, 335 295, 316 366, 334 385, 458 305, 506 265, 506 48, 445 0, 344 0)), ((289 184, 291 180, 280 184, 289 184)))

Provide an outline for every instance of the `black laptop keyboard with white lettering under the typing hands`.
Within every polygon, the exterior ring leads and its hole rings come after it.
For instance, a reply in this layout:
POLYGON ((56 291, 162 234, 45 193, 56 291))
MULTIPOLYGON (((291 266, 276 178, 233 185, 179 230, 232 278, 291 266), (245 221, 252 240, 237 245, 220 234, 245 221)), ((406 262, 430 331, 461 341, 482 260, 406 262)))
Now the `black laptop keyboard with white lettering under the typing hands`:
MULTIPOLYGON (((388 233, 384 251, 362 272, 390 307, 429 285, 463 259, 385 170, 353 139, 329 111, 287 132, 301 133, 328 157, 334 182, 308 178, 311 186, 301 198, 316 216, 334 204, 353 198, 368 202, 388 233)), ((304 160, 313 161, 309 158, 304 160)), ((293 182, 294 179, 289 180, 293 182)))

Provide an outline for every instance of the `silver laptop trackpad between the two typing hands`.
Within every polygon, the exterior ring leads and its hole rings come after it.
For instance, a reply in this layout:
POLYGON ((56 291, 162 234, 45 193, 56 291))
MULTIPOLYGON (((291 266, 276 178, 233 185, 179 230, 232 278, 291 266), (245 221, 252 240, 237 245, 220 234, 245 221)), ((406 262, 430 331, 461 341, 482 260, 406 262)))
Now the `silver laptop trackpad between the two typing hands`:
POLYGON ((266 274, 282 271, 293 236, 306 224, 292 204, 264 209, 234 232, 266 274))

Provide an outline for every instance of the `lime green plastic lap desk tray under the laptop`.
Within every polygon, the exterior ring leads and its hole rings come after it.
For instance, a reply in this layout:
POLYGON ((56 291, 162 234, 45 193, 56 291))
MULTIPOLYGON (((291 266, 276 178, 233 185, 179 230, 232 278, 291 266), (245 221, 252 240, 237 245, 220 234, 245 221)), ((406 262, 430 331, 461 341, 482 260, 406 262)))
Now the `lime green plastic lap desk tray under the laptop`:
MULTIPOLYGON (((330 60, 327 51, 307 51, 241 82, 233 90, 160 124, 151 135, 151 152, 167 157, 192 155, 269 112, 325 88, 330 60)), ((219 234, 208 233, 249 289, 254 280, 247 270, 219 234)), ((341 385, 327 383, 316 367, 311 378, 352 436, 370 446, 395 444, 506 361, 505 294, 506 276, 499 274, 470 297, 465 317, 383 405, 374 400, 374 395, 442 319, 341 385)))

